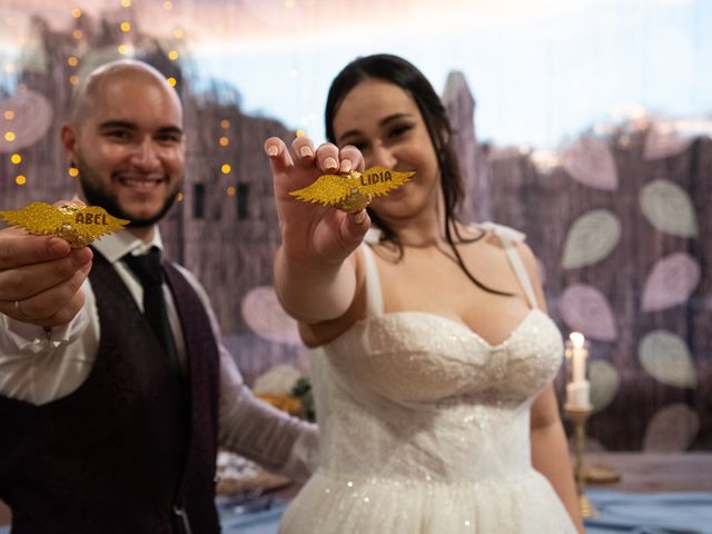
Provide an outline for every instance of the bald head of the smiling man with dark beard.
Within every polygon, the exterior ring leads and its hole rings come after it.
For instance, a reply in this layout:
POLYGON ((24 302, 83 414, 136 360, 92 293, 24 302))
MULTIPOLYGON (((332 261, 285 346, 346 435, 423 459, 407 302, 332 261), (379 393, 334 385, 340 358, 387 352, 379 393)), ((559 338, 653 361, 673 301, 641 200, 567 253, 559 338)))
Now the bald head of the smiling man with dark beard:
POLYGON ((131 220, 138 233, 172 205, 184 178, 182 108, 152 67, 122 60, 91 72, 61 138, 88 204, 131 220))

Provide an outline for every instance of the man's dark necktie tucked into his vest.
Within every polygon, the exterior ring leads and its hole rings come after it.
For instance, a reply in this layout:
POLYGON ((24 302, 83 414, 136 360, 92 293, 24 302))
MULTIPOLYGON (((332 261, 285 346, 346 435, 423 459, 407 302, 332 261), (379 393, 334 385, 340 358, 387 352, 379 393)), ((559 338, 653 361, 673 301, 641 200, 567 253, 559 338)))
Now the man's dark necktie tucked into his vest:
POLYGON ((168 354, 171 369, 179 372, 178 350, 170 329, 166 299, 164 298, 164 269, 160 265, 160 249, 151 247, 142 256, 127 254, 123 261, 134 271, 144 286, 144 315, 150 323, 158 339, 168 354))

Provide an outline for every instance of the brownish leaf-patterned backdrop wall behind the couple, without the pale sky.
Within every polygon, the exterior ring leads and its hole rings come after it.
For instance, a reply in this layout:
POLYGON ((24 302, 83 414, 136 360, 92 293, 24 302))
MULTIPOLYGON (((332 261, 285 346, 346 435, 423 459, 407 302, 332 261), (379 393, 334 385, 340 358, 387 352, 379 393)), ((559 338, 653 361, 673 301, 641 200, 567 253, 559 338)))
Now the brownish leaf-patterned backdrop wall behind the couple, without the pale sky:
MULTIPOLYGON (((123 57, 115 22, 86 16, 65 31, 34 20, 17 87, 0 88, 0 209, 73 195, 58 132, 77 81, 123 57)), ((198 92, 176 39, 132 32, 136 57, 174 79, 186 109, 186 182, 161 224, 169 255, 204 283, 248 383, 281 363, 308 372, 270 286, 279 233, 261 151, 294 132, 243 113, 229 87, 198 92)), ((552 316, 591 343, 592 446, 712 449, 709 123, 637 121, 541 154, 477 144, 462 75, 443 99, 466 179, 463 219, 524 230, 552 316)))

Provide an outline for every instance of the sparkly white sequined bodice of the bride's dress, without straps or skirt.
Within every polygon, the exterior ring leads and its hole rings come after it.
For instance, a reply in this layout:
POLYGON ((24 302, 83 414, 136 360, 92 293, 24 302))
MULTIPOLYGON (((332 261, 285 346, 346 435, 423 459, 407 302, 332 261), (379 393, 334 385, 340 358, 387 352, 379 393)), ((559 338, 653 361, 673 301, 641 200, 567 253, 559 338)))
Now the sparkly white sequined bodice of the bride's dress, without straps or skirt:
POLYGON ((320 465, 404 481, 517 477, 531 464, 528 408, 561 357, 538 309, 498 345, 427 313, 362 320, 313 353, 320 465))

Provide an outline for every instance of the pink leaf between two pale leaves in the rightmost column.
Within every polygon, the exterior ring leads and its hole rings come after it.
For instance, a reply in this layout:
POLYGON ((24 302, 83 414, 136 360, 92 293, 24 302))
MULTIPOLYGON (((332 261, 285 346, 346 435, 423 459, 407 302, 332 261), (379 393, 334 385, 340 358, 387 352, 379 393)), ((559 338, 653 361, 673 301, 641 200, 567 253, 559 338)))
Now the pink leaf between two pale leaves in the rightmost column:
POLYGON ((645 280, 641 309, 656 312, 683 304, 698 287, 700 276, 700 264, 689 254, 665 256, 657 260, 645 280))

